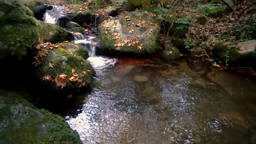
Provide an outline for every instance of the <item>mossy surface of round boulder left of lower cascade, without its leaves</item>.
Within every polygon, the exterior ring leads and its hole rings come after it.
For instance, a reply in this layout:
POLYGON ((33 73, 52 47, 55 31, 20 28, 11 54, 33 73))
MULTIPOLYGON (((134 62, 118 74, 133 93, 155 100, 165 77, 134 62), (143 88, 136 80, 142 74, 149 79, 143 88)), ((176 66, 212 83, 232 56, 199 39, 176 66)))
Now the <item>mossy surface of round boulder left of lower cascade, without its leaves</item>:
POLYGON ((82 83, 85 83, 86 86, 91 82, 91 79, 96 72, 90 63, 84 60, 82 57, 74 56, 62 48, 54 48, 48 52, 49 54, 47 57, 43 58, 43 63, 37 66, 36 75, 40 84, 43 84, 54 91, 64 93, 67 91, 79 90, 79 86, 82 83), (49 67, 49 62, 51 61, 54 61, 53 68, 49 67), (70 78, 73 76, 72 69, 76 69, 76 72, 79 74, 79 79, 82 80, 82 83, 68 81, 66 86, 61 89, 61 86, 57 87, 55 83, 41 81, 45 75, 50 75, 52 78, 55 78, 56 73, 58 73, 58 75, 64 73, 67 75, 67 77, 70 78), (88 70, 90 70, 92 73, 88 70), (84 78, 81 77, 82 71, 87 72, 84 78))

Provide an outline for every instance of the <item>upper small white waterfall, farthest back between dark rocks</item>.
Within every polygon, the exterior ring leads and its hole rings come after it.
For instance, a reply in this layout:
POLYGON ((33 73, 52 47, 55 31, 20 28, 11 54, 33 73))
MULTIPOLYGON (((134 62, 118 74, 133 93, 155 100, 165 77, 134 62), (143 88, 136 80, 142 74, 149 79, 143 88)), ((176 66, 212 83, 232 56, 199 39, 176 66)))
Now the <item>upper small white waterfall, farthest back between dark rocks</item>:
POLYGON ((56 5, 52 5, 52 7, 51 10, 47 10, 44 13, 42 20, 46 23, 57 24, 64 28, 64 23, 60 20, 61 17, 65 16, 64 12, 62 12, 62 7, 56 5))

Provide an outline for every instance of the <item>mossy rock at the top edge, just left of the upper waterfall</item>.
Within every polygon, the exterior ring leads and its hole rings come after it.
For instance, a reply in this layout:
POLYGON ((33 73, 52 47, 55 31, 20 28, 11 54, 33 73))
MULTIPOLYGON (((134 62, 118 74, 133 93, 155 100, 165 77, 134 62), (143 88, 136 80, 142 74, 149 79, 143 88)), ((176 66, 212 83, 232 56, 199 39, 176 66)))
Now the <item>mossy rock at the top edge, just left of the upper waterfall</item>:
POLYGON ((26 7, 34 12, 34 17, 37 20, 41 20, 46 12, 46 6, 44 4, 50 4, 49 0, 20 0, 26 7))

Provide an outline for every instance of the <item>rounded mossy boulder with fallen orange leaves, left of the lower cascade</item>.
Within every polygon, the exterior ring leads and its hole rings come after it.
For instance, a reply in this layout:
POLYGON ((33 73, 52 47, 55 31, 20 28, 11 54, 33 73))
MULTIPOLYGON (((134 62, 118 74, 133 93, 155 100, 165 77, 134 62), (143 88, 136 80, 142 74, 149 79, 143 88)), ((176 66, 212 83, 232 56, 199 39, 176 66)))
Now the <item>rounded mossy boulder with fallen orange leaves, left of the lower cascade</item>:
POLYGON ((37 66, 36 77, 38 83, 47 89, 59 93, 78 91, 87 86, 95 75, 89 62, 68 52, 63 46, 48 49, 46 53, 47 56, 37 66))

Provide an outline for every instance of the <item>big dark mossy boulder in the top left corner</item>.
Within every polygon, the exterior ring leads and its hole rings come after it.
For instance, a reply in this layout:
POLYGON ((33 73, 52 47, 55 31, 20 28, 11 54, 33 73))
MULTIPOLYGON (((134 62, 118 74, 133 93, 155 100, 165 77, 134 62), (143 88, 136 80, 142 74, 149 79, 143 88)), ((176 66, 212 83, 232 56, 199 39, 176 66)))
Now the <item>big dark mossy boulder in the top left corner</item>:
POLYGON ((0 0, 0 58, 26 55, 39 37, 39 24, 19 0, 0 0))

